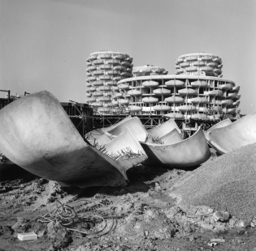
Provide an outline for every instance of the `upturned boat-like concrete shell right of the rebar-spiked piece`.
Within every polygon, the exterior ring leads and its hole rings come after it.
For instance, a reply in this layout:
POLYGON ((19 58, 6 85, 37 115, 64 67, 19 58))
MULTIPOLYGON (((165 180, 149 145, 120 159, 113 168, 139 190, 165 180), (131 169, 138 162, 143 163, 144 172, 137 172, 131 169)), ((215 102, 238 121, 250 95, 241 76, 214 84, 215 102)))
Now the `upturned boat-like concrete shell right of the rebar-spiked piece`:
POLYGON ((167 168, 188 168, 202 164, 210 158, 210 150, 201 127, 193 136, 178 143, 141 143, 149 159, 143 164, 158 164, 167 168))

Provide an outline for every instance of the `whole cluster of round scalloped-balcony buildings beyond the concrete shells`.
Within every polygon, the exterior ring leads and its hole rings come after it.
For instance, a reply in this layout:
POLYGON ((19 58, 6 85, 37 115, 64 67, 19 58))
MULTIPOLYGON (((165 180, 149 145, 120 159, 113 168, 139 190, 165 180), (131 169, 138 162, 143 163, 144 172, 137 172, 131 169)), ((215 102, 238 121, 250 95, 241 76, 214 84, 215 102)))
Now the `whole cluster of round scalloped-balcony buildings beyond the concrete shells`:
POLYGON ((87 62, 87 96, 96 127, 128 115, 140 117, 148 128, 174 118, 191 134, 199 125, 208 128, 239 117, 240 87, 222 78, 222 59, 214 54, 180 56, 176 74, 158 66, 132 68, 131 57, 110 51, 92 53, 87 62))

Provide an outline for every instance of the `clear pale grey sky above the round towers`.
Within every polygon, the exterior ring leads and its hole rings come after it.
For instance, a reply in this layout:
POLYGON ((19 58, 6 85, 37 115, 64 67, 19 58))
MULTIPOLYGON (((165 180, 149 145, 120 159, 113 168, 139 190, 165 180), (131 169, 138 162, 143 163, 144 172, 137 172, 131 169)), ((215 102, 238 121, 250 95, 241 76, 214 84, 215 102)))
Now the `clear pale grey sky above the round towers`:
MULTIPOLYGON (((186 53, 223 60, 256 111, 255 0, 0 0, 0 89, 85 103, 86 58, 111 50, 175 74, 186 53)), ((0 97, 4 94, 0 91, 0 97)))

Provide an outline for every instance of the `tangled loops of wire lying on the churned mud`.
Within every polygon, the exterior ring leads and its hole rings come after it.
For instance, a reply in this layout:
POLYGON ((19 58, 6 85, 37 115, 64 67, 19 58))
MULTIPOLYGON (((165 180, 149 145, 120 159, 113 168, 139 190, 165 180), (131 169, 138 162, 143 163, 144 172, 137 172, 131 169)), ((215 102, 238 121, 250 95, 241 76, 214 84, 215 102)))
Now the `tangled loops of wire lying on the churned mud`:
POLYGON ((92 202, 90 200, 75 201, 82 202, 79 210, 63 204, 57 200, 55 209, 38 217, 41 223, 48 223, 48 234, 54 229, 66 228, 69 232, 77 232, 88 238, 106 235, 115 228, 115 219, 106 208, 108 201, 92 202), (93 230, 94 229, 94 230, 93 230))

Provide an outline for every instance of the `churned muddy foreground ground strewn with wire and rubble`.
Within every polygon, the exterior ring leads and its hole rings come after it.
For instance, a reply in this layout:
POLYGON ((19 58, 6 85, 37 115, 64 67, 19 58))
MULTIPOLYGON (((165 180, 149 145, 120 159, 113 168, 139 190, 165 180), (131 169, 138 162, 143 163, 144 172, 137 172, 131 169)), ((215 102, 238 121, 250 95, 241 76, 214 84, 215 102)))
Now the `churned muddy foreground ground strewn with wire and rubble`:
MULTIPOLYGON (((212 151, 213 161, 216 157, 212 151)), ((0 251, 254 250, 255 225, 170 191, 193 170, 137 166, 124 187, 65 188, 15 165, 0 171, 0 251), (18 233, 36 232, 21 241, 18 233)))

